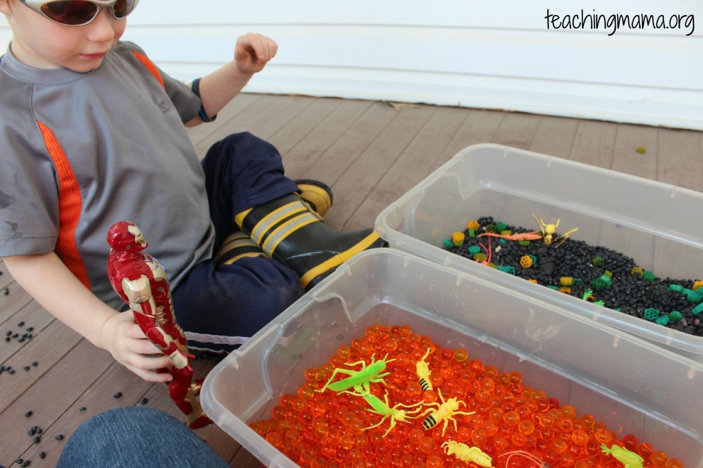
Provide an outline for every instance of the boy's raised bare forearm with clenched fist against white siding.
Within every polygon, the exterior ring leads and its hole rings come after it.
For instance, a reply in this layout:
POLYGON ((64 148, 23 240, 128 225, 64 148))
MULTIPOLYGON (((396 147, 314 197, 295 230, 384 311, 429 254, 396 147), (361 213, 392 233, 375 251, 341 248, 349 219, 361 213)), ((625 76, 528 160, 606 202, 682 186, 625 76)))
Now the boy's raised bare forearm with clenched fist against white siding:
MULTIPOLYGON (((202 108, 208 116, 216 115, 234 96, 237 96, 254 73, 264 70, 266 63, 276 56, 278 44, 261 34, 238 37, 234 60, 200 79, 198 91, 202 108)), ((186 126, 202 123, 200 117, 186 122, 186 126)))

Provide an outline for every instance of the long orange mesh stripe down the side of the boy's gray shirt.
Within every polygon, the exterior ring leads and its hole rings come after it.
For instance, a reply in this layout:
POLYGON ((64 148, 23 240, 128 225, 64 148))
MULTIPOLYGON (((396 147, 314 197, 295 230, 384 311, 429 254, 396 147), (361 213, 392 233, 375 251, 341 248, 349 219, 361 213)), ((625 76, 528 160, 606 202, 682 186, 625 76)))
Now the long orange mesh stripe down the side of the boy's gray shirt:
POLYGON ((56 241, 56 254, 67 268, 88 289, 88 271, 78 252, 76 245, 76 227, 81 217, 83 200, 78 179, 73 172, 70 162, 66 157, 61 144, 48 126, 37 122, 44 138, 46 150, 49 150, 51 160, 56 166, 58 174, 58 240, 56 241))

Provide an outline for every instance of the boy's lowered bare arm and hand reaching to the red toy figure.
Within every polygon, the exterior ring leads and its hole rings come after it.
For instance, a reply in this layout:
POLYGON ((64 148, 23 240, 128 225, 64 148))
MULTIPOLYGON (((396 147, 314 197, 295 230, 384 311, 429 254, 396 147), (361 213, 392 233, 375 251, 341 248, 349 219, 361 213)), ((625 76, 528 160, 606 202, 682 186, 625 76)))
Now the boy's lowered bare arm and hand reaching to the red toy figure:
POLYGON ((91 343, 110 351, 117 362, 149 382, 168 382, 156 369, 170 364, 136 324, 131 313, 119 313, 86 289, 54 252, 7 256, 8 271, 41 306, 91 343))

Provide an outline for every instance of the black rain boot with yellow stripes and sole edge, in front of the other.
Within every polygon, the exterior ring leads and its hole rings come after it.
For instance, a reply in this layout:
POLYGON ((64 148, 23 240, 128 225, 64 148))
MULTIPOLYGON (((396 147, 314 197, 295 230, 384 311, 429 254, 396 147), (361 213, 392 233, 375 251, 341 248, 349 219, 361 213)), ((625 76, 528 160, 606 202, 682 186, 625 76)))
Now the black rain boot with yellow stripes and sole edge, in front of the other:
POLYGON ((355 254, 386 245, 373 228, 330 228, 296 193, 247 209, 234 220, 267 255, 295 271, 305 290, 355 254))

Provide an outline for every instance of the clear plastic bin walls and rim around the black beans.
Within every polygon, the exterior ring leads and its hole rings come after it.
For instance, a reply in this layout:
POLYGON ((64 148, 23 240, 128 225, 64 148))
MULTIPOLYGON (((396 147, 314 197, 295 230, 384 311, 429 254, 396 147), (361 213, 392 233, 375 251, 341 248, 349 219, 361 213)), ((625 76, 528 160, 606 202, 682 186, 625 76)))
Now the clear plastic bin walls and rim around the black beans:
MULTIPOLYGON (((660 278, 703 279, 703 193, 502 145, 465 148, 383 210, 375 228, 390 247, 541 299, 703 363, 703 337, 671 330, 486 268, 442 248, 479 216, 557 232, 631 257, 660 278), (553 220, 553 221, 548 221, 553 220)), ((703 318, 703 317, 702 317, 703 318)))

